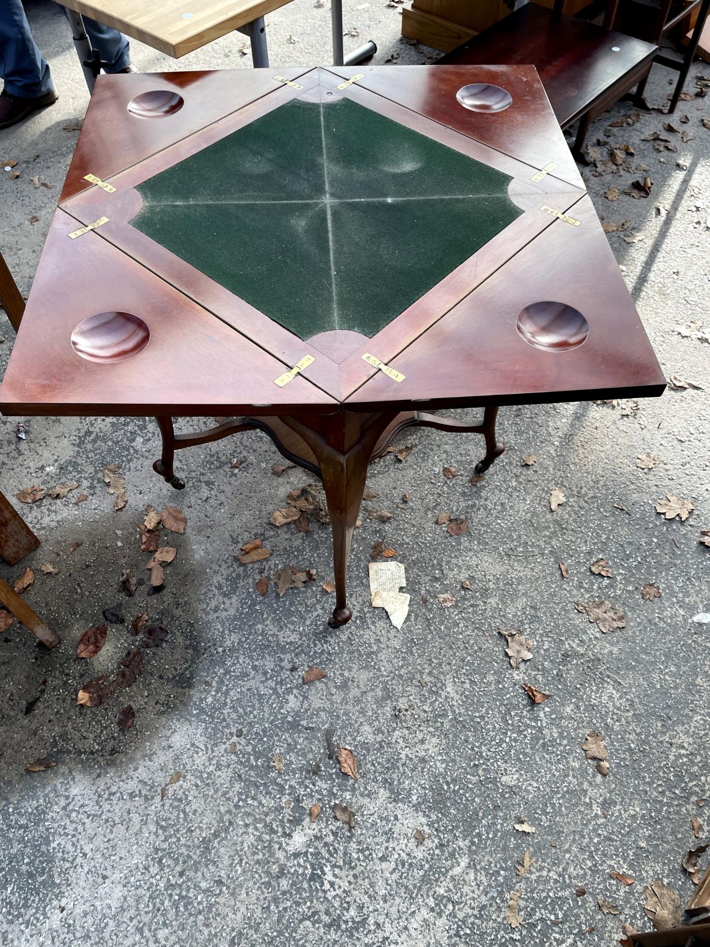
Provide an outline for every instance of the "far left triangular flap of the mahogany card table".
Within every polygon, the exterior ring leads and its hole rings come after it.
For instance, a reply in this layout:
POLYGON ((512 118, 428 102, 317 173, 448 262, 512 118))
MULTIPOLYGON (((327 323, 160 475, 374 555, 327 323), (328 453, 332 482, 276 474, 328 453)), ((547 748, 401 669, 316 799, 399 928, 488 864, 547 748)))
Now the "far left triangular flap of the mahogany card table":
POLYGON ((312 70, 223 69, 100 75, 60 200, 167 148, 312 70), (280 79, 275 78, 276 76, 280 79))

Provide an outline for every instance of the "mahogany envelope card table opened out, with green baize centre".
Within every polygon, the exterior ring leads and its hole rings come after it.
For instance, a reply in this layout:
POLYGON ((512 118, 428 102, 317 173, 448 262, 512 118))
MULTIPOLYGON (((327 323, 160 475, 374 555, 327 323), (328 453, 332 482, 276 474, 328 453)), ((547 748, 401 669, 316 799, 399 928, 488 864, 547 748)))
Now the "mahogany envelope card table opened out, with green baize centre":
POLYGON ((98 78, 0 408, 152 416, 176 488, 264 431, 323 481, 344 624, 400 430, 483 434, 480 472, 500 405, 665 384, 533 66, 333 66, 98 78))

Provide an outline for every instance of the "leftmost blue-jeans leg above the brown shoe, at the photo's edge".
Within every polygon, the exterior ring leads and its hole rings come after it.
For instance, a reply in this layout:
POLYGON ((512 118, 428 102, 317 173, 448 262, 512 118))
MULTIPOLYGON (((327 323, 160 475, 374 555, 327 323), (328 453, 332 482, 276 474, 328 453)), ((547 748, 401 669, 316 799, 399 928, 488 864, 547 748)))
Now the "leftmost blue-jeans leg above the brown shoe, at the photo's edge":
POLYGON ((53 92, 49 65, 32 39, 22 0, 0 0, 0 77, 6 96, 40 98, 53 92))

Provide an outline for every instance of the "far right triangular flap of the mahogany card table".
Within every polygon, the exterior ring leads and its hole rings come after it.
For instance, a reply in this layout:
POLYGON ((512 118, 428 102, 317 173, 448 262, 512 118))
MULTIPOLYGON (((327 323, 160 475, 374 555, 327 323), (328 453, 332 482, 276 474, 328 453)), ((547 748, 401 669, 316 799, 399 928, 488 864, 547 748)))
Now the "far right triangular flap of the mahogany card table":
POLYGON ((398 102, 419 115, 524 161, 584 189, 575 159, 552 111, 534 65, 329 66, 333 73, 398 102), (512 101, 500 112, 474 112, 456 98, 466 86, 482 84, 504 89, 512 101))

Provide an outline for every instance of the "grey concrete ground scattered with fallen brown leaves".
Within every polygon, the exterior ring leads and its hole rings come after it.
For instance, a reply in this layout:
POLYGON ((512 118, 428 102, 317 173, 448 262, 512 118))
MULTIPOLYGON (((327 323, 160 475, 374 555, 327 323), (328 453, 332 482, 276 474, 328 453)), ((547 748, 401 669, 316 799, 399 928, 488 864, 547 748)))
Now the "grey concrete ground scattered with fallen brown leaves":
MULTIPOLYGON (((59 11, 50 3, 28 10, 61 98, 0 133, 3 158, 22 170, 16 180, 0 176, 0 240, 24 292, 87 102, 59 11), (52 187, 34 188, 34 175, 52 187)), ((329 62, 328 9, 294 0, 268 21, 274 65, 329 62)), ((399 42, 399 10, 384 0, 346 0, 349 26, 360 37, 348 44, 378 41, 377 62, 432 54, 399 42)), ((248 68, 240 45, 227 37, 175 62, 134 43, 133 61, 145 71, 248 68)), ((706 73, 696 66, 687 89, 706 73)), ((659 108, 674 78, 653 68, 656 110, 635 124, 610 127, 632 112, 628 104, 595 123, 597 156, 624 144, 635 156, 585 176, 604 221, 630 222, 610 241, 666 375, 700 387, 638 407, 508 408, 506 455, 476 486, 469 474, 481 438, 408 434, 401 443, 414 445, 410 456, 372 467, 379 496, 369 509, 393 516, 385 524, 364 516, 356 531, 355 616, 343 630, 326 624, 328 527, 301 533, 268 523, 309 476, 274 476, 279 458, 266 438, 186 452, 178 470, 187 488, 176 493, 151 472, 151 420, 29 419, 27 440, 15 438, 14 419, 0 421, 9 497, 34 484, 79 484, 63 500, 18 504, 43 542, 19 565, 0 567, 8 580, 34 570, 27 601, 63 639, 46 652, 15 623, 0 643, 1 943, 601 945, 621 936, 622 923, 650 927, 644 885, 661 879, 687 900, 683 856, 710 835, 710 804, 696 802, 710 796, 710 631, 692 621, 710 611, 710 549, 699 544, 710 527, 710 348, 697 327, 686 335, 677 327, 704 320, 710 329, 710 131, 701 124, 710 109, 706 98, 682 102, 673 124, 694 137, 664 132, 659 108), (653 132, 678 151, 654 150, 643 140, 653 132), (624 193, 647 174, 648 198, 624 193), (616 201, 604 197, 612 185, 616 201), (537 462, 523 466, 530 454, 537 462), (643 455, 659 461, 640 469, 643 455), (129 497, 117 512, 101 477, 110 463, 129 497), (460 475, 445 478, 444 465, 460 475), (553 512, 555 487, 566 502, 553 512), (80 491, 88 499, 75 504, 80 491), (685 522, 654 510, 667 492, 695 507, 685 522), (147 504, 179 506, 186 532, 164 531, 162 542, 177 547, 164 591, 149 597, 144 585, 126 598, 121 571, 149 575, 135 528, 147 504), (470 531, 452 537, 435 526, 444 510, 467 518, 470 531), (240 565, 239 546, 255 537, 274 555, 240 565), (378 540, 406 568, 412 600, 401 631, 369 605, 367 563, 378 540), (600 557, 612 577, 591 573, 600 557), (42 563, 58 574, 44 574, 42 563), (316 581, 283 598, 272 585, 261 598, 256 581, 288 565, 314 569, 316 581), (660 599, 642 599, 647 583, 660 599), (601 634, 577 612, 579 599, 609 599, 626 627, 601 634), (98 656, 78 660, 80 635, 117 603, 126 624, 110 624, 98 656), (133 650, 140 639, 131 621, 142 612, 168 629, 167 641, 146 652, 132 688, 103 706, 75 706, 81 685, 114 674, 133 650), (534 642, 522 668, 510 667, 499 628, 534 642), (312 665, 328 676, 306 686, 312 665), (522 684, 551 697, 533 705, 522 684), (135 723, 123 732, 117 713, 129 703, 135 723), (608 748, 607 777, 581 749, 591 730, 608 748), (358 759, 357 781, 333 759, 339 743, 358 759), (26 773, 38 758, 56 766, 26 773), (354 829, 336 820, 334 803, 355 813, 354 829), (521 818, 536 831, 517 830, 521 818), (533 863, 519 875, 525 850, 533 863), (586 895, 577 896, 578 885, 586 895), (515 928, 506 905, 517 889, 515 928), (597 899, 619 913, 603 913, 597 899)), ((4 365, 13 338, 4 317, 0 334, 4 365)))

